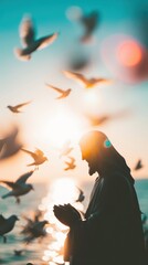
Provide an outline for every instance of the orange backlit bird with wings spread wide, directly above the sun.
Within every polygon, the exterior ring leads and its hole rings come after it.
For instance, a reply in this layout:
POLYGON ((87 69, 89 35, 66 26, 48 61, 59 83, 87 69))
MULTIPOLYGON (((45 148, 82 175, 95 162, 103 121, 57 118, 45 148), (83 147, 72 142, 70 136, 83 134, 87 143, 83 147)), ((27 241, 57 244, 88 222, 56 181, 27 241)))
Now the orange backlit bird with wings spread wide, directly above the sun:
POLYGON ((83 74, 71 72, 71 71, 63 71, 66 77, 73 78, 78 83, 83 84, 85 88, 93 88, 101 84, 110 84, 112 81, 107 78, 86 78, 83 74))

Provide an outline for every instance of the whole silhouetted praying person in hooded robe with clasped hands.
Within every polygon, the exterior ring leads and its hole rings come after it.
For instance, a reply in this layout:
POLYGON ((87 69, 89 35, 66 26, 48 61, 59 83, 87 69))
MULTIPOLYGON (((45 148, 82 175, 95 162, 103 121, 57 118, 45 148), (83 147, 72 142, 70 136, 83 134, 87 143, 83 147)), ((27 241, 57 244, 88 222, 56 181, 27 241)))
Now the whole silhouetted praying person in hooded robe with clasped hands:
POLYGON ((98 177, 85 220, 71 204, 53 208, 70 226, 64 259, 71 265, 145 265, 141 212, 129 167, 101 131, 86 132, 80 147, 89 176, 97 172, 98 177))

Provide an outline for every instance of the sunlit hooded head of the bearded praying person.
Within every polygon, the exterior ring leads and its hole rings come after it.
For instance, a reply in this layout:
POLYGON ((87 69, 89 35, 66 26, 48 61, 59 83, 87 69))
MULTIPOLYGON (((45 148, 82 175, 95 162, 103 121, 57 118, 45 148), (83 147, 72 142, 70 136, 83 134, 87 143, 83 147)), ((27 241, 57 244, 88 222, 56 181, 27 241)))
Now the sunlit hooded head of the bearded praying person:
POLYGON ((120 170, 130 173, 125 159, 113 147, 107 136, 98 130, 86 132, 80 140, 82 159, 88 162, 89 174, 120 170))

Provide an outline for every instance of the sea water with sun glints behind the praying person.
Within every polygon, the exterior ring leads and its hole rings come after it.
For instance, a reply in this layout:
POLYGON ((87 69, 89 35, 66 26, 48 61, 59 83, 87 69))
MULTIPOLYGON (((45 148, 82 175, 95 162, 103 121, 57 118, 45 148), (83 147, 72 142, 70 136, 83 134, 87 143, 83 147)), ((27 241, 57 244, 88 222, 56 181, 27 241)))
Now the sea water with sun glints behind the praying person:
MULTIPOLYGON (((52 215, 52 208, 54 204, 53 193, 51 195, 50 188, 41 183, 34 187, 34 191, 21 197, 20 204, 15 203, 14 198, 0 199, 0 213, 4 218, 17 214, 20 219, 17 221, 14 229, 7 234, 7 243, 3 243, 3 239, 0 236, 0 264, 27 265, 27 263, 30 262, 33 265, 54 265, 63 263, 62 245, 67 230, 64 225, 61 226, 60 223, 55 229, 52 215), (43 216, 50 221, 45 230, 47 233, 43 239, 34 239, 31 243, 27 244, 23 242, 27 235, 22 234, 21 231, 27 225, 27 219, 32 219, 33 213, 38 209, 40 209, 44 213, 43 216), (15 255, 14 251, 22 251, 22 253, 21 255, 15 255)), ((91 188, 92 186, 88 183, 84 186, 84 192, 87 194, 84 200, 85 206, 88 201, 91 188)), ((148 216, 148 180, 136 180, 135 188, 140 210, 148 216)), ((0 188, 0 197, 4 193, 6 189, 0 188)), ((65 202, 67 201, 68 198, 66 198, 65 202)), ((80 210, 85 210, 85 206, 83 206, 82 203, 78 204, 80 210)))

